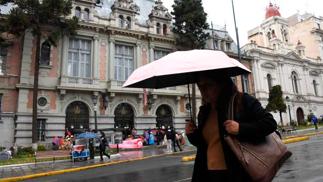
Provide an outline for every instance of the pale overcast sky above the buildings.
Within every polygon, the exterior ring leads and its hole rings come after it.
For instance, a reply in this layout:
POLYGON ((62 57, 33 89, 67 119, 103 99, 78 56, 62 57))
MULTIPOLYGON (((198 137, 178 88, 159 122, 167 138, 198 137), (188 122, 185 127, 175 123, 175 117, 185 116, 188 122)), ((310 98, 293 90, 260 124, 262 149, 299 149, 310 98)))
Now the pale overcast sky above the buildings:
MULTIPOLYGON (((173 0, 162 0, 163 5, 172 11, 173 0)), ((231 0, 202 0, 204 11, 208 14, 207 22, 213 25, 224 26, 229 35, 236 42, 234 18, 231 0)), ((322 0, 271 0, 271 3, 279 6, 280 14, 288 18, 298 12, 303 15, 305 12, 312 13, 316 17, 323 16, 322 0)), ((259 27, 265 19, 266 7, 269 0, 234 0, 235 19, 239 33, 240 47, 248 43, 247 32, 259 27)))

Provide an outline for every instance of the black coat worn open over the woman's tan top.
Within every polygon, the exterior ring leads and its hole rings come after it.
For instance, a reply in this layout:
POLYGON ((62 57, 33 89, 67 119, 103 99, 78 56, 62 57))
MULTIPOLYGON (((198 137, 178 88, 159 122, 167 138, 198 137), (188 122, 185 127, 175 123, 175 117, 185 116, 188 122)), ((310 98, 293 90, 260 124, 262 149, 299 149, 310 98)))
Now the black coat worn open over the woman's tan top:
MULTIPOLYGON (((239 123, 239 139, 240 140, 255 140, 263 138, 268 134, 275 132, 277 123, 272 114, 267 112, 251 95, 244 93, 240 104, 234 103, 235 108, 240 106, 238 111, 234 112, 234 121, 239 123)), ((207 173, 207 143, 202 135, 203 126, 210 113, 211 105, 206 104, 200 107, 198 114, 198 128, 193 134, 188 134, 188 140, 191 144, 197 147, 197 154, 194 163, 194 171, 192 181, 200 181, 201 176, 208 177, 207 173)), ((219 133, 224 153, 224 159, 227 166, 226 182, 248 182, 251 181, 245 169, 239 163, 233 151, 224 141, 224 135, 227 134, 223 123, 227 120, 227 105, 217 108, 219 133)), ((209 179, 213 181, 217 179, 209 179)))

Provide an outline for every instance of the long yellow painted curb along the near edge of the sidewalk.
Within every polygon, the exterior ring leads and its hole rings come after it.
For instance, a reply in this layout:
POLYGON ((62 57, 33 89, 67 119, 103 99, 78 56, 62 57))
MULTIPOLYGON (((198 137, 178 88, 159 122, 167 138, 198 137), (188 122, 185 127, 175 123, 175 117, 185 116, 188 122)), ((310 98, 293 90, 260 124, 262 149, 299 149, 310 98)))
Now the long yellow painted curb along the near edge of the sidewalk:
POLYGON ((25 176, 19 176, 19 177, 8 177, 8 178, 0 179, 0 182, 12 182, 12 181, 19 181, 19 180, 24 180, 24 179, 36 178, 36 177, 52 176, 52 175, 75 172, 75 171, 80 171, 80 170, 85 170, 85 169, 90 169, 90 168, 96 168, 96 167, 120 164, 120 163, 124 163, 124 162, 139 161, 139 160, 148 159, 148 158, 151 158, 151 157, 159 157, 159 156, 163 156, 163 155, 180 154, 180 153, 193 152, 193 151, 196 151, 196 150, 186 150, 186 151, 182 151, 182 152, 174 152, 174 153, 167 153, 167 154, 160 154, 160 155, 152 155, 152 156, 141 157, 141 158, 136 158, 136 159, 128 159, 128 160, 117 161, 117 162, 96 164, 96 165, 92 165, 92 166, 78 167, 78 168, 73 168, 73 169, 65 169, 65 170, 52 171, 52 172, 46 172, 46 173, 38 173, 38 174, 25 175, 25 176))

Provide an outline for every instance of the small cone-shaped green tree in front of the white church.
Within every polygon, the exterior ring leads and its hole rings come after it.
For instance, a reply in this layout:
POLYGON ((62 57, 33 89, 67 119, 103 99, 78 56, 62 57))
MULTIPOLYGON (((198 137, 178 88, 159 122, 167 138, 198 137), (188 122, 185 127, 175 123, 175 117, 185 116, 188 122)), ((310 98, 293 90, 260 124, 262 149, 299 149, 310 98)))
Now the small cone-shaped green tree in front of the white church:
POLYGON ((287 106, 284 103, 283 99, 283 91, 280 85, 275 85, 269 91, 268 104, 266 106, 266 110, 269 112, 277 113, 280 115, 280 124, 284 125, 282 112, 286 112, 287 106))

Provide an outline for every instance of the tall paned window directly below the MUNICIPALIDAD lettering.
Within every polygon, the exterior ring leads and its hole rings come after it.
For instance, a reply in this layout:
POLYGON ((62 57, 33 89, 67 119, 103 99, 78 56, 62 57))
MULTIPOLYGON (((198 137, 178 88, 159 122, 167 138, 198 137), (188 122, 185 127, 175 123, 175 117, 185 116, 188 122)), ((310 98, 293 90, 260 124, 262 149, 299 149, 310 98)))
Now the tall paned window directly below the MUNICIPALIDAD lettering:
POLYGON ((127 80, 134 68, 134 51, 132 46, 115 45, 114 78, 127 80))

